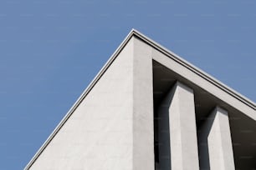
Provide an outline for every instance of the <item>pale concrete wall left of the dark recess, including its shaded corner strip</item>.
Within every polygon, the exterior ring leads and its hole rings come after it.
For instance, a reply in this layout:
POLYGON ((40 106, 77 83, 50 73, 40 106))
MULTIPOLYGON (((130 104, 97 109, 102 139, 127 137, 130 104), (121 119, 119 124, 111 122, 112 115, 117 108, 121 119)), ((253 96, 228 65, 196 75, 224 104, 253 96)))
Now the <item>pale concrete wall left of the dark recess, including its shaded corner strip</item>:
POLYGON ((135 52, 134 43, 141 47, 131 37, 30 169, 154 168, 152 89, 146 87, 152 82, 151 56, 135 52), (135 56, 141 58, 135 60, 135 56), (139 72, 141 63, 150 74, 139 72))

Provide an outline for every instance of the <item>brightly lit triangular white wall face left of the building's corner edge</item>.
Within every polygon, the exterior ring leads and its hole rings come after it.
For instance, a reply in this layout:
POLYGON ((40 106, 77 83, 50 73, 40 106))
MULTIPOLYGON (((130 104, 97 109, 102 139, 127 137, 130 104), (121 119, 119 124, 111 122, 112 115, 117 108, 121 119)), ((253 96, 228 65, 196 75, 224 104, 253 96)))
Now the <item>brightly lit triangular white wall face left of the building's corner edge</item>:
POLYGON ((132 53, 131 40, 30 169, 132 169, 132 53))

